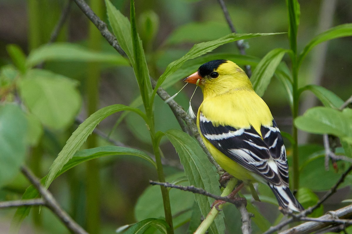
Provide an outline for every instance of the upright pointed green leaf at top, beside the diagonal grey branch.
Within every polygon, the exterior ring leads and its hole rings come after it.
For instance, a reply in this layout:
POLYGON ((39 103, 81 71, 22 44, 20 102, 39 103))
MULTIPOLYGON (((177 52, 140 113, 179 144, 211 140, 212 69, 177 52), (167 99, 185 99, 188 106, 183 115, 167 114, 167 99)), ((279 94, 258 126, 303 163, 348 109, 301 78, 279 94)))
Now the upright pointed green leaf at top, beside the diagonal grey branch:
POLYGON ((131 63, 134 63, 130 21, 128 21, 128 19, 122 15, 109 0, 105 0, 105 4, 112 31, 131 63))

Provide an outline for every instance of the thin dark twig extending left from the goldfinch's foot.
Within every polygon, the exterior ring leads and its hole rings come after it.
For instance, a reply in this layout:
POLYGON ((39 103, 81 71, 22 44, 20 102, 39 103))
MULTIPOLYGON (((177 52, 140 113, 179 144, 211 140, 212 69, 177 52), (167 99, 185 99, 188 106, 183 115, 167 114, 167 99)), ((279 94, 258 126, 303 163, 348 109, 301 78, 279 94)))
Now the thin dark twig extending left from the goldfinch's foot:
POLYGON ((168 182, 162 183, 162 182, 156 182, 156 181, 152 181, 152 180, 150 180, 149 183, 151 185, 160 185, 160 186, 164 186, 164 187, 168 187, 168 188, 177 188, 177 189, 180 189, 180 190, 183 190, 183 191, 188 191, 188 192, 192 192, 192 193, 205 195, 205 196, 208 196, 209 198, 214 198, 215 200, 222 200, 222 201, 230 202, 230 203, 232 203, 234 205, 238 205, 239 202, 242 202, 242 201, 238 201, 238 200, 235 200, 235 199, 228 198, 227 196, 218 196, 218 195, 209 193, 206 190, 204 190, 202 188, 194 187, 193 185, 191 185, 191 186, 182 186, 182 185, 174 185, 174 184, 168 183, 168 182))

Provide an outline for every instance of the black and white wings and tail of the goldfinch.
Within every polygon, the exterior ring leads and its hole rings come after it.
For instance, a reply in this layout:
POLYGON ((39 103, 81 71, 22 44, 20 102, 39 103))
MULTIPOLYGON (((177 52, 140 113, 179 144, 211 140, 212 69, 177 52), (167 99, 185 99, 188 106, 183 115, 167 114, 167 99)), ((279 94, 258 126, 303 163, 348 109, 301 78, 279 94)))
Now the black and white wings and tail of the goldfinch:
POLYGON ((214 126, 200 112, 199 127, 203 137, 216 149, 264 179, 281 207, 303 210, 289 189, 286 150, 275 120, 272 126, 261 126, 260 135, 252 126, 239 129, 214 126))

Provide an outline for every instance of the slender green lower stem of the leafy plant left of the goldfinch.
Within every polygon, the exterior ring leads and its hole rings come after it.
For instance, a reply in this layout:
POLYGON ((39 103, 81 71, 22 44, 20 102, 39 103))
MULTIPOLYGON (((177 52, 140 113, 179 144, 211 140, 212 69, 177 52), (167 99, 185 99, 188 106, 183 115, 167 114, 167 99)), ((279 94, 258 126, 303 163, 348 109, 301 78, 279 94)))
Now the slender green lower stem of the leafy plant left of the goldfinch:
MULTIPOLYGON (((156 161, 156 166, 157 166, 158 179, 159 179, 159 182, 164 183, 165 176, 164 176, 163 165, 161 162, 161 153, 160 153, 160 148, 159 148, 161 136, 158 136, 157 134, 155 134, 153 115, 151 116, 149 128, 150 128, 150 136, 152 139, 153 151, 154 151, 155 161, 156 161)), ((167 229, 167 233, 174 234, 174 225, 172 223, 172 213, 171 213, 169 190, 164 186, 160 186, 160 188, 161 188, 161 194, 163 197, 165 221, 169 225, 169 228, 167 229)))

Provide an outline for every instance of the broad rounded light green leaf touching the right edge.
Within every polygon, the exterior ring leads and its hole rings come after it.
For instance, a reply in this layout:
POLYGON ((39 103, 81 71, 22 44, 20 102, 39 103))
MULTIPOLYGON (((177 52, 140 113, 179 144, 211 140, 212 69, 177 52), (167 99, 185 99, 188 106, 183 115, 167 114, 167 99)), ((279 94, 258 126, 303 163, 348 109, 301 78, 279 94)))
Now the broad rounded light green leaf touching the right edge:
POLYGON ((309 133, 352 136, 352 109, 310 108, 294 121, 297 128, 309 133))

